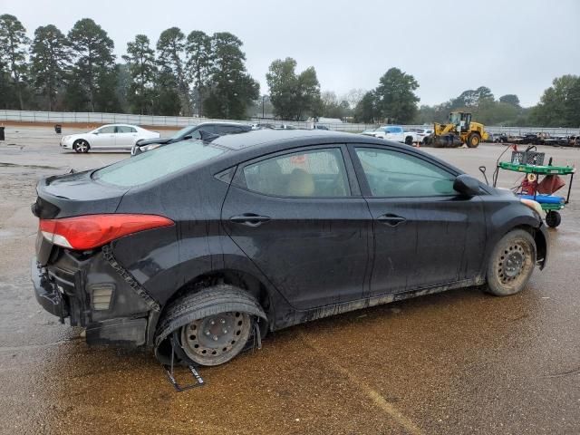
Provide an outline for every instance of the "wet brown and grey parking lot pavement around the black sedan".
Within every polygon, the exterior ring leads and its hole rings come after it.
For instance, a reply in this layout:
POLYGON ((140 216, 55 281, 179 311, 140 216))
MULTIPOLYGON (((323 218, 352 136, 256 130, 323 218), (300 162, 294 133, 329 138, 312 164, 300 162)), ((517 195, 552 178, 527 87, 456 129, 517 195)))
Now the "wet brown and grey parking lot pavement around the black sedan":
MULTIPOLYGON (((152 353, 89 348, 34 299, 37 180, 129 157, 59 138, 9 126, 0 142, 0 433, 580 433, 580 180, 526 291, 456 290, 271 333, 178 393, 152 353)), ((491 179, 504 148, 424 150, 491 179)), ((580 165, 580 149, 538 150, 580 165)))

